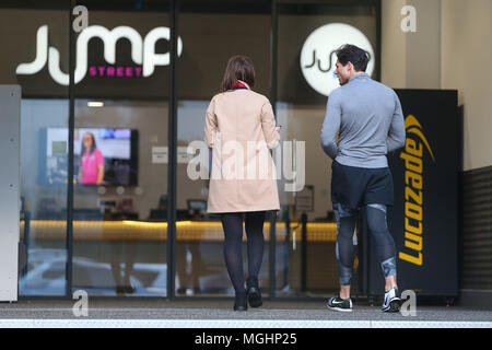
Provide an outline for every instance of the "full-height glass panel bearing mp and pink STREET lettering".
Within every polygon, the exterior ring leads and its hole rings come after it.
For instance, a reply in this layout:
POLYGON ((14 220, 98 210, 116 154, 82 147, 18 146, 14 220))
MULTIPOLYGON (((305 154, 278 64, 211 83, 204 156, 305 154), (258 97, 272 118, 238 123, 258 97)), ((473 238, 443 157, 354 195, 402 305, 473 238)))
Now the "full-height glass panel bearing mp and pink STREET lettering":
POLYGON ((168 9, 87 8, 77 35, 73 289, 165 296, 168 9))

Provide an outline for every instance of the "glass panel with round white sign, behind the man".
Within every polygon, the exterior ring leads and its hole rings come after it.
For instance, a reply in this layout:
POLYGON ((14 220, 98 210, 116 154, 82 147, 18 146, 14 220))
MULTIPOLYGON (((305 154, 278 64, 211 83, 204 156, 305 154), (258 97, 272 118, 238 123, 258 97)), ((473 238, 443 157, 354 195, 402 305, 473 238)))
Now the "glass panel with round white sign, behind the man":
MULTIPOLYGON (((305 178, 298 178, 297 184, 300 187, 305 184, 305 188, 298 192, 279 191, 283 212, 277 222, 278 296, 326 294, 338 289, 331 160, 323 151, 319 138, 327 96, 339 85, 333 75, 333 50, 347 43, 361 47, 368 43, 364 47, 372 54, 367 72, 373 79, 378 77, 375 13, 372 7, 279 5, 277 118, 282 125, 282 138, 292 141, 283 153, 291 149, 297 155, 296 165, 283 166, 295 171, 297 176, 303 166, 305 178), (304 253, 303 214, 306 215, 304 253)), ((291 183, 286 175, 281 187, 291 183)), ((354 293, 358 280, 354 273, 354 293)))

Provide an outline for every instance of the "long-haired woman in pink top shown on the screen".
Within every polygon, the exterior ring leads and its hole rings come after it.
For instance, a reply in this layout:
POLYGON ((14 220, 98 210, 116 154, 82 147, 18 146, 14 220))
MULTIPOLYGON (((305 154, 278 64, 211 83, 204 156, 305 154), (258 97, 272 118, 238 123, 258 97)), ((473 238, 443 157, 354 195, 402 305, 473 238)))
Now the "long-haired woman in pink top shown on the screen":
POLYGON ((80 159, 80 183, 82 185, 102 185, 104 179, 104 156, 96 148, 92 132, 85 132, 82 138, 80 159))

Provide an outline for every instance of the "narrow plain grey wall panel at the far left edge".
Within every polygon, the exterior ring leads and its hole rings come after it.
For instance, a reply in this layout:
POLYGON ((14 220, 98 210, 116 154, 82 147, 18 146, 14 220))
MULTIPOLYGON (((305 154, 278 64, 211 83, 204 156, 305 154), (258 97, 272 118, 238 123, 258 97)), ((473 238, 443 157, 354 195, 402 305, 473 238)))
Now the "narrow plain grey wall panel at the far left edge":
POLYGON ((0 301, 17 300, 21 86, 0 85, 0 301))

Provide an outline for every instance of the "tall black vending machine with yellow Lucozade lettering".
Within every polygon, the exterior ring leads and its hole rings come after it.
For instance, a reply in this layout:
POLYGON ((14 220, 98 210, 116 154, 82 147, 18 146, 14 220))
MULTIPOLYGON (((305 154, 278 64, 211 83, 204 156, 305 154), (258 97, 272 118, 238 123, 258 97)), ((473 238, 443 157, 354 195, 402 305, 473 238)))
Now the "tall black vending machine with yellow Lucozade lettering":
MULTIPOLYGON (((459 172, 462 120, 456 90, 396 90, 405 117, 405 148, 388 155, 395 206, 388 228, 397 248, 398 287, 417 296, 458 296, 459 172)), ((375 242, 362 235, 367 295, 382 295, 375 242)))

